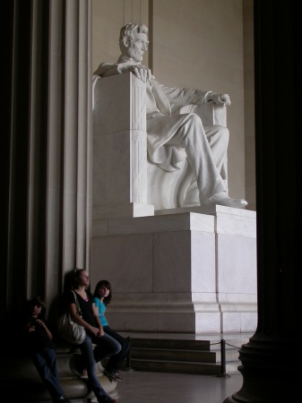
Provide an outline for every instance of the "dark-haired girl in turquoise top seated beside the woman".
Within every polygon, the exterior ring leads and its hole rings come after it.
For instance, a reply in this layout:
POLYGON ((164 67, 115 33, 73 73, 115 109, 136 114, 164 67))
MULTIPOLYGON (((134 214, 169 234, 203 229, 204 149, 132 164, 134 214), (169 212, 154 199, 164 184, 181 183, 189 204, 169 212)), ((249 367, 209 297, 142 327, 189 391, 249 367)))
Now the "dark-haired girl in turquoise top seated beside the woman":
POLYGON ((116 339, 121 345, 121 350, 115 356, 111 356, 108 364, 106 365, 106 370, 104 374, 108 377, 110 381, 122 381, 122 376, 118 372, 119 367, 123 363, 125 356, 127 356, 130 344, 127 339, 123 338, 115 330, 112 330, 108 326, 108 321, 105 316, 105 311, 107 305, 110 303, 112 298, 112 288, 107 280, 100 280, 95 287, 93 294, 94 304, 98 308, 99 321, 103 327, 105 333, 107 333, 112 338, 116 339))

